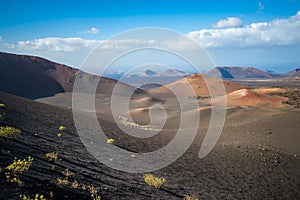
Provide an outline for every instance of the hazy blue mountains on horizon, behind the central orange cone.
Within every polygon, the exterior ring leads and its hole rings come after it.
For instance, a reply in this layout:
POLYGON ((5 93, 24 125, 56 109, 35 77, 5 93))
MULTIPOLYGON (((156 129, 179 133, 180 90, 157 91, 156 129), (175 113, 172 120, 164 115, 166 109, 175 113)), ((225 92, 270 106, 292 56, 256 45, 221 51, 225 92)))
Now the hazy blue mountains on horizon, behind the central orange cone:
POLYGON ((187 75, 189 75, 189 73, 181 71, 179 69, 167 69, 160 72, 147 69, 144 72, 137 73, 137 74, 130 74, 127 77, 164 77, 164 76, 187 76, 187 75))

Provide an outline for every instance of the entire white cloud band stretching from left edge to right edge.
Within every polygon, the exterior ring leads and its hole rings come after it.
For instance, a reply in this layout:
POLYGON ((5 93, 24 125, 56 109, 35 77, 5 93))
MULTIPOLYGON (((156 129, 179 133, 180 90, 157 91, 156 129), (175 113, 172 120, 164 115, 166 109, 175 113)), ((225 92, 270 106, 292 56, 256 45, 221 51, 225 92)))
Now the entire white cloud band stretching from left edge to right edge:
MULTIPOLYGON (((227 24, 225 21, 222 23, 222 20, 219 21, 217 23, 218 28, 192 31, 187 36, 194 39, 204 48, 255 48, 262 46, 274 47, 276 45, 300 45, 300 11, 296 15, 286 19, 257 22, 244 27, 236 27, 237 25, 241 25, 241 20, 240 23, 233 23, 233 21, 239 20, 228 19, 230 18, 225 20, 227 24), (229 24, 234 27, 229 28, 229 24)), ((49 37, 9 44, 5 43, 1 36, 0 41, 2 49, 29 54, 38 52, 90 52, 103 42, 103 40, 86 40, 80 37, 49 37)), ((143 46, 165 47, 178 51, 193 50, 195 48, 184 37, 164 41, 142 39, 110 40, 106 41, 101 48, 105 50, 124 50, 143 46)))

